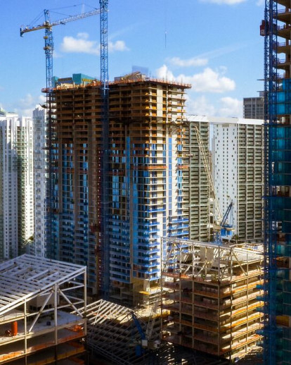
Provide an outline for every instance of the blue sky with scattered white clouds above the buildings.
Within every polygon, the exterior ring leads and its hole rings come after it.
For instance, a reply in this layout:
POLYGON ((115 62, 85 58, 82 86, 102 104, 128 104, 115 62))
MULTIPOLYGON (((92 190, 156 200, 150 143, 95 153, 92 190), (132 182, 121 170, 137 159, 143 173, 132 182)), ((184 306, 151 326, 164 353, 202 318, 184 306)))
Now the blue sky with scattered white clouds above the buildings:
MULTIPOLYGON (((2 108, 30 116, 44 101, 44 30, 20 37, 20 25, 42 23, 44 9, 53 21, 98 7, 98 0, 1 4, 2 108)), ((109 0, 108 8, 110 80, 141 66, 153 78, 190 83, 188 113, 210 116, 242 116, 243 97, 263 89, 261 0, 109 0)), ((100 77, 98 15, 53 27, 53 37, 53 75, 100 77)))

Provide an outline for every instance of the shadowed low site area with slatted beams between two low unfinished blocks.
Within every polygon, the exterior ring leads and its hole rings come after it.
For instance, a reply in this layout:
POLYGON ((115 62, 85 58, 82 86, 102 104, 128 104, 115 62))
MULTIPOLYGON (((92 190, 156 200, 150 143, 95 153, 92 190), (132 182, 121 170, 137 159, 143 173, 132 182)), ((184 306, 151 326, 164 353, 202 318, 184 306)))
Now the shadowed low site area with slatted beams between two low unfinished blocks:
POLYGON ((103 357, 110 364, 226 365, 228 361, 193 352, 160 339, 160 323, 169 311, 160 311, 160 300, 152 308, 130 309, 106 300, 87 306, 87 344, 91 358, 103 357))

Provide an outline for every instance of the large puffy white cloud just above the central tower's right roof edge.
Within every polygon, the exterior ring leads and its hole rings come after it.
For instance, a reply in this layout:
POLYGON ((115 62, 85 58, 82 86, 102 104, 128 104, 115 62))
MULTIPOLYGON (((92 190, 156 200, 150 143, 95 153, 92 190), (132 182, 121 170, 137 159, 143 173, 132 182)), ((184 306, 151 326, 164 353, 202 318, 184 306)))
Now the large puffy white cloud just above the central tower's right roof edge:
POLYGON ((202 73, 196 73, 192 76, 181 74, 175 77, 167 65, 163 65, 161 68, 157 69, 157 78, 191 84, 194 92, 221 93, 235 89, 235 82, 230 78, 226 78, 224 76, 225 73, 225 67, 221 67, 216 71, 207 67, 202 73))

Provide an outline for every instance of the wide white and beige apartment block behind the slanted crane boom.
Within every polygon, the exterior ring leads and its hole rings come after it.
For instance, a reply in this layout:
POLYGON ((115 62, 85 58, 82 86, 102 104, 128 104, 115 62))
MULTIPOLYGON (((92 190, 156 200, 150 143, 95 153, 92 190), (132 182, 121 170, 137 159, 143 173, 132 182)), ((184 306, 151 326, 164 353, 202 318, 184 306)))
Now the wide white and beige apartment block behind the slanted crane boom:
MULTIPOLYGON (((190 134, 191 231, 209 227, 209 197, 219 205, 221 219, 233 201, 233 226, 241 240, 262 240, 264 187, 263 120, 188 116, 190 134), (195 132, 195 133, 194 133, 195 132), (209 160, 209 146, 212 163, 209 160), (203 157, 204 155, 204 157, 203 157), (205 166, 209 172, 205 170, 205 166), (209 176, 212 178, 209 178, 209 176), (210 181, 212 179, 212 182, 210 181), (214 192, 212 191, 214 190, 214 192), (191 200, 194 199, 194 200, 191 200)), ((215 210, 214 218, 219 218, 215 210)), ((193 240, 196 238, 191 237, 193 240)), ((205 241, 200 236, 199 240, 205 241)))

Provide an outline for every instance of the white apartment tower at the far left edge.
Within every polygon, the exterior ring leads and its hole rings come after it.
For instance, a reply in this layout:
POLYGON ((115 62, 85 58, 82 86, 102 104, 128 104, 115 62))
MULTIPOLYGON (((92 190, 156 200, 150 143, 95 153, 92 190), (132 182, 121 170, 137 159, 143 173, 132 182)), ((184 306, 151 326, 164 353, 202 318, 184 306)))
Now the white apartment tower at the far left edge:
POLYGON ((0 111, 0 259, 25 250, 34 233, 32 118, 0 111))

